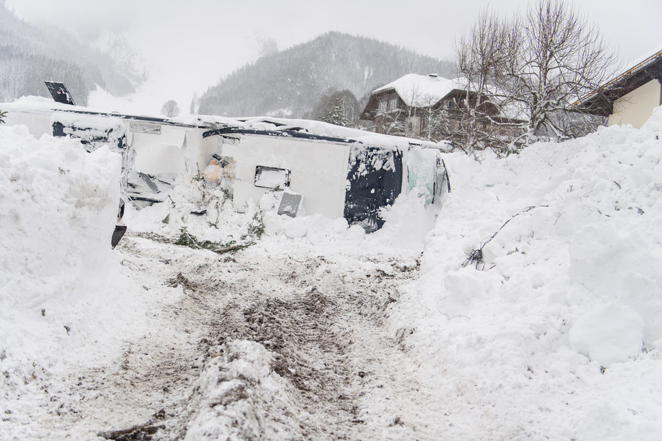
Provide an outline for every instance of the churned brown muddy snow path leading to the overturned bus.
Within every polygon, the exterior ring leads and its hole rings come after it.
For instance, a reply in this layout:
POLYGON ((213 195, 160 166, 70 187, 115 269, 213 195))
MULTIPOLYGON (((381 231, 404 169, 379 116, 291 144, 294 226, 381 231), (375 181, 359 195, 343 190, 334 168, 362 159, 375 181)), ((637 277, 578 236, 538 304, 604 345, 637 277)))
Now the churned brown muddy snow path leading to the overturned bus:
POLYGON ((119 252, 143 289, 181 296, 110 365, 54 380, 57 407, 40 424, 99 440, 439 438, 408 330, 382 326, 416 260, 293 246, 219 256, 126 238, 119 252))

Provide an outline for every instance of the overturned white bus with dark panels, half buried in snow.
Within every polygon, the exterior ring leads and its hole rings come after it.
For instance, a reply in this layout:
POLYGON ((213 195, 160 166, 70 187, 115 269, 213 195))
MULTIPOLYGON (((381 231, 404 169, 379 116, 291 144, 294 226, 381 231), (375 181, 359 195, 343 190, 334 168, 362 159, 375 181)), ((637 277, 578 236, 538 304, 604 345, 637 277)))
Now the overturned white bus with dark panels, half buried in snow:
POLYGON ((26 125, 34 136, 80 139, 90 152, 108 145, 122 156, 122 192, 139 209, 200 178, 221 185, 238 212, 276 192, 279 214, 343 217, 371 232, 399 194, 415 191, 432 204, 450 191, 442 158, 448 143, 319 121, 102 112, 74 105, 61 83, 47 84, 57 102, 28 96, 3 103, 6 123, 26 125))

